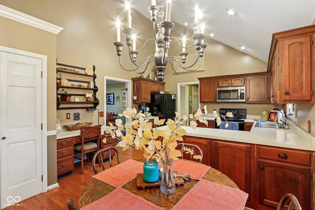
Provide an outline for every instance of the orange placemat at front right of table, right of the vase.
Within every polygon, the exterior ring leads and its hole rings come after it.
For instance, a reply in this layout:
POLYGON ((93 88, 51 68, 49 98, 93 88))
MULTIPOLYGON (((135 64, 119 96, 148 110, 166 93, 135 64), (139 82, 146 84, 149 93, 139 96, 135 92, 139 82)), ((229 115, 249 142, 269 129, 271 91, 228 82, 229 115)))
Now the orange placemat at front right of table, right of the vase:
POLYGON ((248 193, 242 190, 200 180, 172 210, 244 210, 247 198, 248 193))

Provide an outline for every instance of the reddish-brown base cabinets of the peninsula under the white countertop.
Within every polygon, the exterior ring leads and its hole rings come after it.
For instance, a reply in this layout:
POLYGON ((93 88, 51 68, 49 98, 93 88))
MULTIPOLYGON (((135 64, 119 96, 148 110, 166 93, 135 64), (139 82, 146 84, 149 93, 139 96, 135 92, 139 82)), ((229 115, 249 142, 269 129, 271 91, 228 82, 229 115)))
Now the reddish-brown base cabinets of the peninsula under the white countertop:
POLYGON ((249 194, 246 207, 275 210, 285 193, 314 210, 314 151, 184 136, 199 146, 204 164, 221 171, 249 194))

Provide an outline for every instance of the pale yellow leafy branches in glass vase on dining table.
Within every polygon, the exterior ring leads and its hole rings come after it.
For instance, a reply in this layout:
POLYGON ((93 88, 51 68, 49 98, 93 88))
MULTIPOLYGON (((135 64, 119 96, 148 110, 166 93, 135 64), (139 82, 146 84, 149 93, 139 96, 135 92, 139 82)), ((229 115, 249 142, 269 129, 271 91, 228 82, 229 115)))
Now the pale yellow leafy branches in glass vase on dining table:
MULTIPOLYGON (((117 126, 115 129, 105 130, 112 138, 120 140, 116 147, 122 147, 123 150, 127 150, 130 146, 134 147, 142 151, 147 160, 151 158, 162 163, 165 177, 162 176, 161 178, 161 191, 164 194, 175 192, 171 163, 182 156, 182 151, 176 149, 178 144, 183 142, 183 136, 186 135, 186 130, 181 126, 189 122, 189 126, 195 129, 197 126, 196 120, 208 125, 208 121, 201 118, 207 114, 206 106, 203 111, 199 108, 194 115, 190 114, 188 117, 183 116, 180 118, 179 113, 175 112, 175 114, 174 119, 167 119, 166 126, 160 127, 164 124, 165 119, 159 120, 155 118, 154 123, 152 123, 142 111, 137 112, 135 108, 127 108, 120 116, 132 119, 131 124, 128 122, 123 124, 121 119, 117 119, 115 120, 117 126), (126 129, 125 135, 122 133, 123 129, 126 129), (166 177, 167 180, 165 180, 166 177), (165 182, 165 186, 162 186, 163 182, 165 182)), ((220 125, 220 116, 217 115, 216 111, 213 114, 217 117, 217 124, 220 125)), ((231 113, 227 114, 227 116, 230 115, 231 113)), ((113 124, 110 123, 110 126, 113 126, 113 124)), ((227 126, 226 122, 225 127, 227 126)), ((103 139, 103 142, 106 143, 106 138, 103 139)), ((193 152, 189 148, 184 150, 185 152, 193 152)), ((193 158, 201 159, 201 156, 194 154, 193 158)))

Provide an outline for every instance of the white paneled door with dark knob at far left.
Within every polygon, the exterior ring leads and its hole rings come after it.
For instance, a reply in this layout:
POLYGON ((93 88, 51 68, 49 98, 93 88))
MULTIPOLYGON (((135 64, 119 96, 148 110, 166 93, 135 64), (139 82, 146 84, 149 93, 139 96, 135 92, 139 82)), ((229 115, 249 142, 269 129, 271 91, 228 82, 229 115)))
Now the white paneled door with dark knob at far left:
POLYGON ((43 190, 42 62, 0 52, 1 209, 43 190))

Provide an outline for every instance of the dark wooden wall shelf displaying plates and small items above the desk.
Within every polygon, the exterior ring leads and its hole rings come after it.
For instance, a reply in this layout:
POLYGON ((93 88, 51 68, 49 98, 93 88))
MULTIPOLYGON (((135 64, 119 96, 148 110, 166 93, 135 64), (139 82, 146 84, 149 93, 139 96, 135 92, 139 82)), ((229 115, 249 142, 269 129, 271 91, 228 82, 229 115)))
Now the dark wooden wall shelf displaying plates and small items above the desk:
POLYGON ((95 65, 92 69, 57 63, 57 109, 96 108, 95 78, 95 65))

